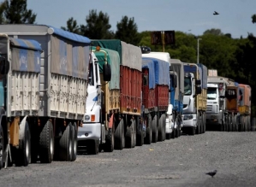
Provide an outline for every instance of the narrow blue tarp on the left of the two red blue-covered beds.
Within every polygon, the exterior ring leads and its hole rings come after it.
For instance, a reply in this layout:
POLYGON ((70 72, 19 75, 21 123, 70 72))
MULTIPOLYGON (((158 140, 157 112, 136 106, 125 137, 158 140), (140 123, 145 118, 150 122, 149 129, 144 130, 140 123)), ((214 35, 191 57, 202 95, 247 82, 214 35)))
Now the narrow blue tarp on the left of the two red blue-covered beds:
POLYGON ((155 80, 155 64, 152 58, 142 57, 142 69, 148 69, 148 82, 149 89, 154 89, 156 87, 155 80))

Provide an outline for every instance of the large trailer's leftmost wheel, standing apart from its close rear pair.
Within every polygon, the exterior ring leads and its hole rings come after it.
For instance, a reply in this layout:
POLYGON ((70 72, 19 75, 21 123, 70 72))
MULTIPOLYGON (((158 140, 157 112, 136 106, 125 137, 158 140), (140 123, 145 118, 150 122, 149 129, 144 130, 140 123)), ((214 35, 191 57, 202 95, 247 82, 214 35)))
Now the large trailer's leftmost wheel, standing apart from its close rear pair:
POLYGON ((41 163, 51 163, 54 153, 54 137, 51 121, 47 121, 39 137, 39 159, 41 163))

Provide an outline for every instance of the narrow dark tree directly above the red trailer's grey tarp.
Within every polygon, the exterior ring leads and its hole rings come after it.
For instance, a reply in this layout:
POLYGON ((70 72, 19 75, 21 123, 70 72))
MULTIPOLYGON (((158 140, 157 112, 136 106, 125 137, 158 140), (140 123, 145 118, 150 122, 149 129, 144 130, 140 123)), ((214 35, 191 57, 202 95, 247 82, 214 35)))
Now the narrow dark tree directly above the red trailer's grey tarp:
POLYGON ((138 33, 138 26, 134 22, 134 17, 123 16, 122 20, 117 22, 116 28, 116 38, 128 44, 139 45, 141 38, 138 33))

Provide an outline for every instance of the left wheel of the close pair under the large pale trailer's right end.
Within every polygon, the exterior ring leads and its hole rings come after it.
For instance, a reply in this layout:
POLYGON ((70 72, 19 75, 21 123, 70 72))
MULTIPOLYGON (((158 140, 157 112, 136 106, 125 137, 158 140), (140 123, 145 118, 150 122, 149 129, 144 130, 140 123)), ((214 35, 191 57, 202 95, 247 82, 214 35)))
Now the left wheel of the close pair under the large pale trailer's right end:
POLYGON ((72 158, 72 130, 68 124, 66 129, 63 131, 63 136, 59 140, 59 159, 61 161, 70 161, 72 158))

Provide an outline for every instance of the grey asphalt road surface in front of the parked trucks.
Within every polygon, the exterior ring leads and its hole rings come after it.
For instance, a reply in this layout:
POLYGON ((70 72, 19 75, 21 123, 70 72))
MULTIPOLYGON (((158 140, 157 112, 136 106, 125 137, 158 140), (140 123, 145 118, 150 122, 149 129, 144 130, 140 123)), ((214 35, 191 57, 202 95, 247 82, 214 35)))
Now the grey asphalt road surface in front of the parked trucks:
POLYGON ((256 186, 256 132, 206 131, 0 171, 0 186, 256 186), (211 178, 205 172, 217 170, 211 178))

